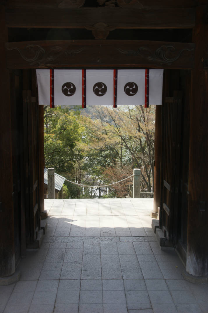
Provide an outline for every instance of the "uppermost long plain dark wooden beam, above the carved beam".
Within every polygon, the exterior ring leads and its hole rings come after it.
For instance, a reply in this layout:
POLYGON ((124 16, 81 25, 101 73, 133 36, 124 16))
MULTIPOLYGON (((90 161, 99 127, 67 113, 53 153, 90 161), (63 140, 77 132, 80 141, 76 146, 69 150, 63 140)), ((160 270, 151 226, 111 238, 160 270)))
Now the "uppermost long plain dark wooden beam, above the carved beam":
POLYGON ((19 28, 193 28, 194 21, 194 8, 6 8, 6 25, 19 28))

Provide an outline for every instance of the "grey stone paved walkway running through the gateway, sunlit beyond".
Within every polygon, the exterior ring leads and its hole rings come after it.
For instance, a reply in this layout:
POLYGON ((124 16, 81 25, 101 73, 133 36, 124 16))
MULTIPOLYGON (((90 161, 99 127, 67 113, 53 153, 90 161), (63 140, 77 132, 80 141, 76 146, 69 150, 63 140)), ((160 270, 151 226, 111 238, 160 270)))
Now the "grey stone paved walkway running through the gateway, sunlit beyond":
POLYGON ((20 280, 0 286, 4 313, 208 313, 208 285, 183 279, 151 228, 152 199, 46 200, 48 229, 20 280))

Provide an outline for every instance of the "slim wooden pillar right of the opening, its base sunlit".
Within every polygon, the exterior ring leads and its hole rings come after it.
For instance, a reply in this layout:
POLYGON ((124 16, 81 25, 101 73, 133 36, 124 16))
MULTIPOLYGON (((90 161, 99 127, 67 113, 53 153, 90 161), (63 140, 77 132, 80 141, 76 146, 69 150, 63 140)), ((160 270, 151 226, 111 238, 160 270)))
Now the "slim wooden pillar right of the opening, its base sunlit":
POLYGON ((151 217, 158 218, 160 207, 160 159, 161 159, 161 105, 155 108, 155 164, 154 164, 154 205, 151 217))

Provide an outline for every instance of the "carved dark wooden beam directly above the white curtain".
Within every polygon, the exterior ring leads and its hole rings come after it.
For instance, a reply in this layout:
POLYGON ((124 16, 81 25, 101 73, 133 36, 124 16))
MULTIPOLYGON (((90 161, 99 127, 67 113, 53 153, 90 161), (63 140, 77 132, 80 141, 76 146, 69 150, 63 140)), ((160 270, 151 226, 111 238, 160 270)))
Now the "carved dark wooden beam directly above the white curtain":
POLYGON ((7 67, 192 69, 194 44, 140 40, 56 40, 6 44, 7 67))

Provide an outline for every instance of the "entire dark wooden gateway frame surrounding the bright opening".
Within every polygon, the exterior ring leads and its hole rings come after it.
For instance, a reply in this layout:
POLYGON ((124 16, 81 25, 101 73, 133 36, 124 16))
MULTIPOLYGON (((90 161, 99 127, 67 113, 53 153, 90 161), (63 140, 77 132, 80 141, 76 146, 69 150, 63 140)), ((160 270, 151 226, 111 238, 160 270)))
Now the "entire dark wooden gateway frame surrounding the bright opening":
POLYGON ((34 69, 163 68, 156 234, 160 245, 177 249, 186 278, 207 280, 206 1, 7 0, 0 8, 0 277, 18 279, 15 264, 26 245, 39 246, 40 221, 47 216, 43 108, 36 103, 34 69))

